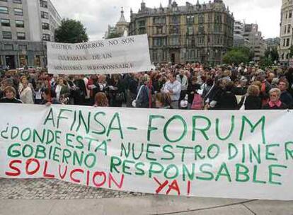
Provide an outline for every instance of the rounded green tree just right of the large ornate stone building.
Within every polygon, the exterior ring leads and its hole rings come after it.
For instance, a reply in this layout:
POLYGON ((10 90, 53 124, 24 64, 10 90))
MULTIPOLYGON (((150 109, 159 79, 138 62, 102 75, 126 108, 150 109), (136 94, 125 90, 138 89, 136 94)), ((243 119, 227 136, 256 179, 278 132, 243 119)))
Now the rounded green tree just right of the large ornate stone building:
POLYGON ((247 47, 234 47, 224 55, 223 61, 225 64, 248 63, 253 58, 251 50, 247 47))

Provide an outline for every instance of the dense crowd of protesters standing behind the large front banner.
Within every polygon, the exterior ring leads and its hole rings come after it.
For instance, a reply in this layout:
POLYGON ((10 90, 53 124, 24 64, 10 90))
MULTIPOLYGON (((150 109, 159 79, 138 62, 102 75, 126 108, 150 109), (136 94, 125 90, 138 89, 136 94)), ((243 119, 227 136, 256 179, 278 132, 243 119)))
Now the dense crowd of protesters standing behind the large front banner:
POLYGON ((293 68, 160 64, 144 73, 2 71, 0 103, 185 110, 293 108, 293 68))

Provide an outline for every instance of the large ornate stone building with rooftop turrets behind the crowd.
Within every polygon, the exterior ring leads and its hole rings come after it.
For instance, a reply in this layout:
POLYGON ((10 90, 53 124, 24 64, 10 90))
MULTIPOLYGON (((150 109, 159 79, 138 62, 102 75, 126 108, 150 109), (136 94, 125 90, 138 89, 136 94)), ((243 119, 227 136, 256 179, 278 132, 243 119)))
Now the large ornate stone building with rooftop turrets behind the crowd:
POLYGON ((222 0, 131 11, 130 35, 147 34, 151 62, 221 64, 233 47, 234 16, 222 0))

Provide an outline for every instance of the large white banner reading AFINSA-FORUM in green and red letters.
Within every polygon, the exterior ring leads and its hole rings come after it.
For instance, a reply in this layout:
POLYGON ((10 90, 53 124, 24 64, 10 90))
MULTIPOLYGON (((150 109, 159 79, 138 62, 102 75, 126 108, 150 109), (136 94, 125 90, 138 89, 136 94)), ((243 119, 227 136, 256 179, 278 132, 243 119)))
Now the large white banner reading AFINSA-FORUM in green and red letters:
POLYGON ((8 104, 0 112, 3 178, 293 200, 292 112, 8 104))

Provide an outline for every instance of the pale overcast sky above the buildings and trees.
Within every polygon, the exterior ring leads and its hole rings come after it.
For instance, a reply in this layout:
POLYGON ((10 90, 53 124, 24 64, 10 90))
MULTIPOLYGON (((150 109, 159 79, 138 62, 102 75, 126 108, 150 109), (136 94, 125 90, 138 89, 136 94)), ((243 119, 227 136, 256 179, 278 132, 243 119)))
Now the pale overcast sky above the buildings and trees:
MULTIPOLYGON (((130 21, 130 8, 137 13, 141 0, 51 0, 62 18, 74 18, 81 21, 87 29, 90 40, 101 40, 108 25, 115 25, 120 19, 123 6, 125 18, 130 21)), ((176 0, 185 5, 188 0, 176 0)), ((213 1, 213 0, 212 0, 213 1)), ((165 7, 168 0, 144 0, 147 7, 165 7)), ((196 4, 197 0, 189 0, 196 4)), ((200 0, 200 3, 208 0, 200 0)), ((226 6, 234 13, 235 20, 257 23, 263 37, 280 36, 281 0, 224 0, 226 6)))

